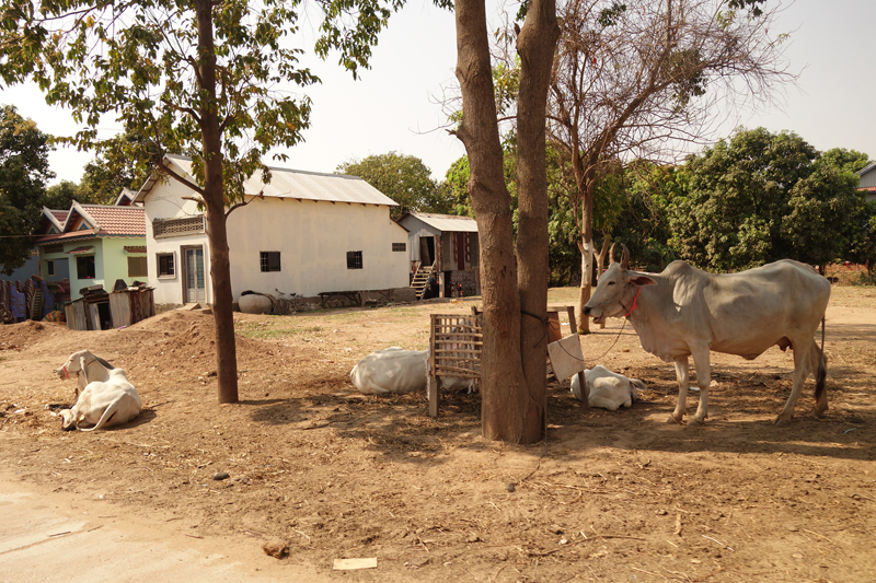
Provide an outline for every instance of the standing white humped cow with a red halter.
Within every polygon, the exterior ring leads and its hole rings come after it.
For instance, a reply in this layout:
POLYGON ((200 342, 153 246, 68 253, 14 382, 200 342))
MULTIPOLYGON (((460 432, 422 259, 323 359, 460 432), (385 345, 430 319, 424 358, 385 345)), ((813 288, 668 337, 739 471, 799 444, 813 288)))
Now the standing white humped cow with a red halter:
POLYGON ((708 412, 712 374, 710 350, 753 360, 773 345, 794 350, 794 386, 775 423, 794 415, 804 382, 816 377, 815 412, 828 408, 825 378, 827 359, 815 341, 830 300, 830 282, 811 267, 782 259, 739 273, 713 275, 684 261, 673 261, 662 273, 627 269, 630 252, 599 278, 584 313, 599 324, 607 317, 626 317, 642 348, 666 362, 675 362, 678 403, 669 418, 680 423, 687 410, 688 357, 693 357, 700 406, 690 424, 702 423, 708 412))

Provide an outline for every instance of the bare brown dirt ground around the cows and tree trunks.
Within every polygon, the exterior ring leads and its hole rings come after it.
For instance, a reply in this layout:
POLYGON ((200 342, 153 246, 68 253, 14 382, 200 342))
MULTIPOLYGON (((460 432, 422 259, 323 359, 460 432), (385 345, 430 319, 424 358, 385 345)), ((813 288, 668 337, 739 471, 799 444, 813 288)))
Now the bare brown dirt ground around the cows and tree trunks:
MULTIPOLYGON (((574 290, 552 290, 551 303, 574 290)), ((425 349, 429 313, 477 299, 296 316, 235 314, 241 403, 217 405, 212 317, 160 314, 126 329, 0 326, 0 477, 217 548, 288 543, 283 565, 356 581, 876 581, 876 290, 834 288, 828 399, 809 380, 794 421, 772 420, 792 357, 714 355, 705 427, 667 424, 670 364, 613 319, 585 359, 645 381, 631 409, 584 408, 549 387, 549 439, 480 436, 480 397, 365 396, 348 373, 389 346, 425 349), (613 345, 612 343, 615 342, 613 345), (601 357, 609 348, 607 355, 601 357), (126 369, 131 423, 61 432, 53 371, 88 348, 126 369), (214 480, 217 473, 229 479, 214 480), (378 568, 332 571, 337 558, 378 568)), ((695 409, 689 400, 689 413, 695 409)), ((291 571, 291 569, 289 569, 291 571)))

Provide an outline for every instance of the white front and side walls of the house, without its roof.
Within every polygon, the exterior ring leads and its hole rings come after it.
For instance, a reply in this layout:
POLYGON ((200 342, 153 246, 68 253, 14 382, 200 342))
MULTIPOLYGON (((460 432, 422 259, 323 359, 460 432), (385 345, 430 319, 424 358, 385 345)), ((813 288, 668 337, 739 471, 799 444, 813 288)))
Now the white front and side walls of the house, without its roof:
MULTIPOLYGON (((183 303, 182 248, 203 245, 207 302, 212 302, 209 248, 206 234, 155 238, 152 221, 197 214, 191 191, 176 183, 155 185, 146 197, 149 285, 155 304, 183 303), (173 253, 172 278, 158 278, 158 254, 173 253)), ((406 243, 407 233, 390 220, 388 207, 251 199, 228 218, 231 288, 234 301, 246 290, 313 296, 328 291, 382 290, 408 284, 410 263, 393 243, 406 243), (280 253, 280 271, 261 270, 261 252, 280 253), (347 252, 362 252, 362 268, 347 269, 347 252)))

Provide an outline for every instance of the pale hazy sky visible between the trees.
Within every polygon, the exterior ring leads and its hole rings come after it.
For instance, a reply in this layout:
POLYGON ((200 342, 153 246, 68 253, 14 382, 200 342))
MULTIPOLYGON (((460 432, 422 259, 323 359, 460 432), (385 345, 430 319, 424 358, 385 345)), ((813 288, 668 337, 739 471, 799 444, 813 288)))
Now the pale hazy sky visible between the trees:
MULTIPOLYGON (((498 23, 497 11, 491 13, 498 23)), ((721 135, 729 136, 736 126, 791 130, 818 150, 845 148, 876 159, 872 112, 876 75, 869 67, 876 55, 874 22, 874 0, 784 2, 775 32, 791 33, 784 55, 789 70, 799 73, 798 82, 784 91, 779 106, 744 113, 725 123, 721 135)), ((424 0, 410 1, 390 20, 371 69, 361 71, 358 81, 336 60, 336 56, 325 62, 307 57, 304 63, 323 80, 301 90, 313 101, 311 127, 304 143, 284 151, 288 161, 274 164, 335 172, 338 164, 395 151, 419 158, 435 179, 442 179, 450 164, 465 153, 446 130, 441 104, 456 86, 452 13, 424 0)), ((47 133, 72 135, 78 129, 70 113, 46 105, 34 85, 0 88, 0 104, 15 105, 47 133)), ((119 130, 112 124, 101 128, 104 133, 119 130)), ((79 182, 92 159, 89 152, 59 148, 49 155, 56 173, 51 184, 79 182)))

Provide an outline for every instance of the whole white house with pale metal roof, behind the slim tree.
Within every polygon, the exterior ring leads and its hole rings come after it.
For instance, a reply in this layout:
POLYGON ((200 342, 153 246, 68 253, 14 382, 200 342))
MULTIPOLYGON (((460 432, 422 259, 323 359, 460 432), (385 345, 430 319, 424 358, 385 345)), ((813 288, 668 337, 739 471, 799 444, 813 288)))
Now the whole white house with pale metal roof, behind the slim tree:
MULTIPOLYGON (((192 162, 163 164, 191 176, 192 162)), ((270 168, 244 184, 246 206, 228 215, 231 289, 297 293, 408 285, 407 232, 390 219, 395 202, 356 176, 270 168)), ((210 249, 195 193, 153 174, 137 194, 146 211, 149 285, 157 304, 212 302, 210 249)))

